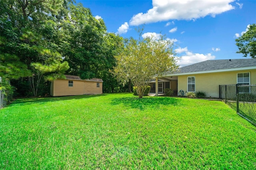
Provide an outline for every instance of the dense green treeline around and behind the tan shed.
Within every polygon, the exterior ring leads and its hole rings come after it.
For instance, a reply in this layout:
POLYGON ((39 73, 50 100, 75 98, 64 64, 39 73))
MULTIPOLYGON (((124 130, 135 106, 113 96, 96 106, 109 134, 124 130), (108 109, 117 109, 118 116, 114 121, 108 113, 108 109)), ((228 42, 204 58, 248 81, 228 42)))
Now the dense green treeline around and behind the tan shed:
POLYGON ((21 96, 49 93, 63 74, 104 80, 104 93, 126 91, 109 72, 124 47, 104 21, 72 0, 0 0, 0 76, 21 96))

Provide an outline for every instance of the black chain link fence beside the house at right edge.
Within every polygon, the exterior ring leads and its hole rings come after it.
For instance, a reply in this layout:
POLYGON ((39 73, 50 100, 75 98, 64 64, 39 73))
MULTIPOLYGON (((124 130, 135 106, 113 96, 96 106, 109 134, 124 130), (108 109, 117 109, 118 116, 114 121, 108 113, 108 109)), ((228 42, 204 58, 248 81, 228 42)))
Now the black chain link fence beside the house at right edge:
POLYGON ((256 125, 256 85, 220 85, 220 98, 256 125))

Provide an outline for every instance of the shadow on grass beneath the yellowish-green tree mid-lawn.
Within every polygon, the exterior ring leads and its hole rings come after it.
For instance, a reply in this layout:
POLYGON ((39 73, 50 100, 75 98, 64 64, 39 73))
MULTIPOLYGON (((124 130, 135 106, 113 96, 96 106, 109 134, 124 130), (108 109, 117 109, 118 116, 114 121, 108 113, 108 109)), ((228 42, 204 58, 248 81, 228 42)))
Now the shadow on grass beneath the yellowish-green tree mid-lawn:
POLYGON ((134 109, 144 110, 148 107, 160 108, 160 105, 177 105, 179 100, 173 97, 143 97, 142 99, 138 97, 123 97, 112 99, 111 104, 123 104, 134 109))

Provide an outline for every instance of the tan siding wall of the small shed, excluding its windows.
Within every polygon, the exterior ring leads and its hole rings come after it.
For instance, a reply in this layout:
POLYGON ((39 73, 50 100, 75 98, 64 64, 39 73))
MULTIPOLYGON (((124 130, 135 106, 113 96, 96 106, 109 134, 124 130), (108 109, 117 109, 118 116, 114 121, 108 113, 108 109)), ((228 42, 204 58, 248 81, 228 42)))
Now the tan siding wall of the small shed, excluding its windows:
POLYGON ((57 79, 51 84, 52 96, 71 96, 84 94, 102 94, 102 83, 97 87, 97 82, 72 80, 73 87, 68 86, 68 79, 57 79))

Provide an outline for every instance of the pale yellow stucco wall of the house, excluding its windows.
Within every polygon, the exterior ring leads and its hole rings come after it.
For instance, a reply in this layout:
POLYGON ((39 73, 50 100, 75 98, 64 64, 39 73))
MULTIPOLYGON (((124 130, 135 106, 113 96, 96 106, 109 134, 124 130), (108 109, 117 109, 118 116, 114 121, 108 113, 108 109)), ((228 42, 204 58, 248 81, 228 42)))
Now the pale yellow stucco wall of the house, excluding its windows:
POLYGON ((195 76, 196 91, 205 91, 207 97, 219 97, 219 85, 236 84, 237 73, 250 72, 250 84, 256 84, 256 70, 229 71, 221 73, 188 74, 178 76, 178 91, 186 92, 188 76, 195 76))

